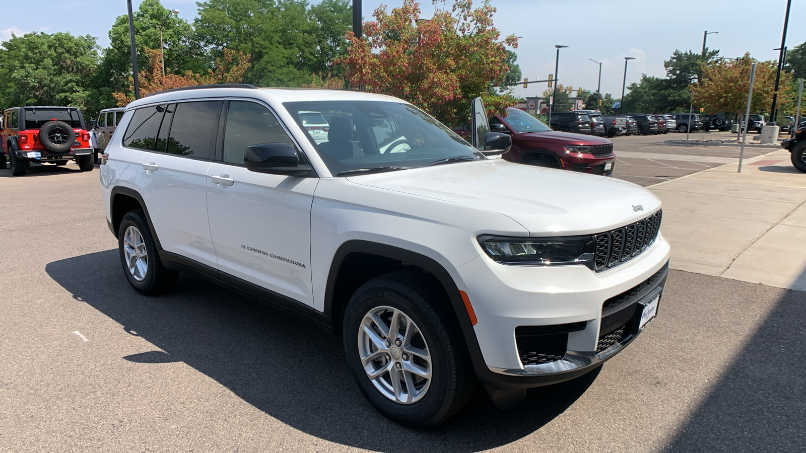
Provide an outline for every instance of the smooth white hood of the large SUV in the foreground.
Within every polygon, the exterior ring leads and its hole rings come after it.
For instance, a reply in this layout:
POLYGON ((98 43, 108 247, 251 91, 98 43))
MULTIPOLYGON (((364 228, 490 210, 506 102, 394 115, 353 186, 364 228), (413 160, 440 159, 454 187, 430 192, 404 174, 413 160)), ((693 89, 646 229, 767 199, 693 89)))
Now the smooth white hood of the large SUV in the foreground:
POLYGON ((494 211, 512 218, 534 236, 609 231, 645 218, 660 207, 660 200, 652 193, 626 181, 501 159, 435 165, 347 177, 347 180, 494 211))

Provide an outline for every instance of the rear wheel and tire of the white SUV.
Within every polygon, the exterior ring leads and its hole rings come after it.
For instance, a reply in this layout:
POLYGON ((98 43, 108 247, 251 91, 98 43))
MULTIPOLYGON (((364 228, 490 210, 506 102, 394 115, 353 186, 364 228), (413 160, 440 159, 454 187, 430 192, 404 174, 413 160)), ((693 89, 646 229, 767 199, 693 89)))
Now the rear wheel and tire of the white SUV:
POLYGON ((163 266, 143 210, 131 210, 123 216, 118 252, 126 278, 140 293, 164 293, 176 283, 178 272, 163 266))

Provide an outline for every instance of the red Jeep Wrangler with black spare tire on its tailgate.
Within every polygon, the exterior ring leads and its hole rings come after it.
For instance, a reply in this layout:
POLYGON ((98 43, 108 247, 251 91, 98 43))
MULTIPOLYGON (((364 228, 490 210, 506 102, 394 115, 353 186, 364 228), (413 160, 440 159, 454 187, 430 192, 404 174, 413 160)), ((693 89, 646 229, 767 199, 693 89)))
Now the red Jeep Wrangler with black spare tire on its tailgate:
POLYGON ((23 176, 30 162, 50 162, 56 165, 76 160, 82 172, 93 169, 93 148, 89 132, 76 107, 14 107, 2 114, 0 126, 0 168, 6 168, 6 156, 11 174, 23 176))

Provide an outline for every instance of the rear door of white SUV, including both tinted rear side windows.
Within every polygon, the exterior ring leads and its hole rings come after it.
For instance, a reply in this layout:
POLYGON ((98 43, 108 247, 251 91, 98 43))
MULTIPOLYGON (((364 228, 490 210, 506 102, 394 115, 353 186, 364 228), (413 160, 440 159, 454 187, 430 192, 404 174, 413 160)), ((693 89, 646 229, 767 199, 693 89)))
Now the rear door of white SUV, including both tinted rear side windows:
POLYGON ((150 151, 140 160, 135 183, 160 245, 210 268, 216 263, 205 189, 221 105, 209 100, 144 107, 135 111, 123 136, 124 146, 135 143, 150 151), (150 123, 157 121, 156 138, 138 135, 138 128, 152 131, 150 123))

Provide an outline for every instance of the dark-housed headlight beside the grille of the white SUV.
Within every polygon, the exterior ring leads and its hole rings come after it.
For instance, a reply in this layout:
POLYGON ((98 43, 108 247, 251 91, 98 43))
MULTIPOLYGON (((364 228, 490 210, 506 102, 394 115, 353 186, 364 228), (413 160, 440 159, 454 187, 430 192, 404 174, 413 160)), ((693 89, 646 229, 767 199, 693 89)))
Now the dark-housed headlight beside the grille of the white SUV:
POLYGON ((487 255, 509 264, 592 264, 596 243, 593 236, 556 238, 501 238, 479 236, 487 255))

